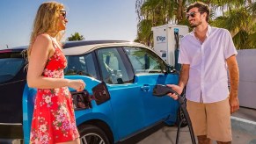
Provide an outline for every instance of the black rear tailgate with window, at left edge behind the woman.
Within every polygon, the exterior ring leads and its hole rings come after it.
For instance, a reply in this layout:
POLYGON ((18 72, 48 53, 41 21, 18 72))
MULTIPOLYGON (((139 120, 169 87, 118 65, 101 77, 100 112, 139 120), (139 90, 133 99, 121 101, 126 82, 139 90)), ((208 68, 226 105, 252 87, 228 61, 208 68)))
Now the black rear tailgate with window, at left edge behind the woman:
POLYGON ((23 139, 22 95, 26 86, 26 59, 21 51, 0 50, 0 143, 11 136, 23 139))

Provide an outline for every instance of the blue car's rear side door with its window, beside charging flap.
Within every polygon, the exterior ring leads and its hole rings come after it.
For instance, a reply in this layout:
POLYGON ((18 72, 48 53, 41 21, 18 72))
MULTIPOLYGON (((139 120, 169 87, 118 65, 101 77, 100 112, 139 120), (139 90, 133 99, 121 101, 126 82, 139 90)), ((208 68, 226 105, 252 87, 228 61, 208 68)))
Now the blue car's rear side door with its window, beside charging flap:
POLYGON ((131 64, 121 47, 96 51, 101 79, 111 97, 115 130, 120 139, 133 135, 144 126, 143 95, 134 82, 131 64))

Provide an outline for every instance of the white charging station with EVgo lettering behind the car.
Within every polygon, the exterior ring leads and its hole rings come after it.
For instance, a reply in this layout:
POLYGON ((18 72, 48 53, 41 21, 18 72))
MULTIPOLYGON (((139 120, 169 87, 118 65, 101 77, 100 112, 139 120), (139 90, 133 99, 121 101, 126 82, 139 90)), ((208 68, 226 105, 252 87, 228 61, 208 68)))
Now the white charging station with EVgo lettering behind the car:
POLYGON ((187 25, 160 25, 152 27, 154 38, 154 50, 168 64, 179 70, 178 64, 179 43, 180 40, 188 33, 187 25))

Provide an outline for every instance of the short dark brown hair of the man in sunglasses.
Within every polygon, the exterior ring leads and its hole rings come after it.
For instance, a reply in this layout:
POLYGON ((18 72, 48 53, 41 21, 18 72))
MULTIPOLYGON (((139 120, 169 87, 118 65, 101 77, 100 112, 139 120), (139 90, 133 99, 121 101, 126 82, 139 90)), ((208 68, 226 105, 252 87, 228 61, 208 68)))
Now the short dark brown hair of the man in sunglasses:
POLYGON ((194 4, 191 4, 187 7, 187 12, 190 9, 193 8, 198 8, 198 11, 200 11, 201 13, 206 12, 207 16, 206 16, 206 21, 208 22, 208 16, 209 16, 209 8, 207 4, 201 3, 201 2, 195 2, 194 4))

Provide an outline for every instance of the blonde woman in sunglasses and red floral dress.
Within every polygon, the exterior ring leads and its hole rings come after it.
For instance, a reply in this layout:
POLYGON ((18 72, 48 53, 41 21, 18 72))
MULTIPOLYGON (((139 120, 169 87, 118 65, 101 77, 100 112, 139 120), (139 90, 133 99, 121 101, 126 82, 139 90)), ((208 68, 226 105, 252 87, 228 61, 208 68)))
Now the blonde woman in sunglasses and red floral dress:
POLYGON ((80 143, 69 89, 84 90, 82 80, 64 79, 67 61, 62 54, 62 31, 68 20, 64 5, 40 5, 27 50, 27 84, 37 88, 30 143, 80 143))

